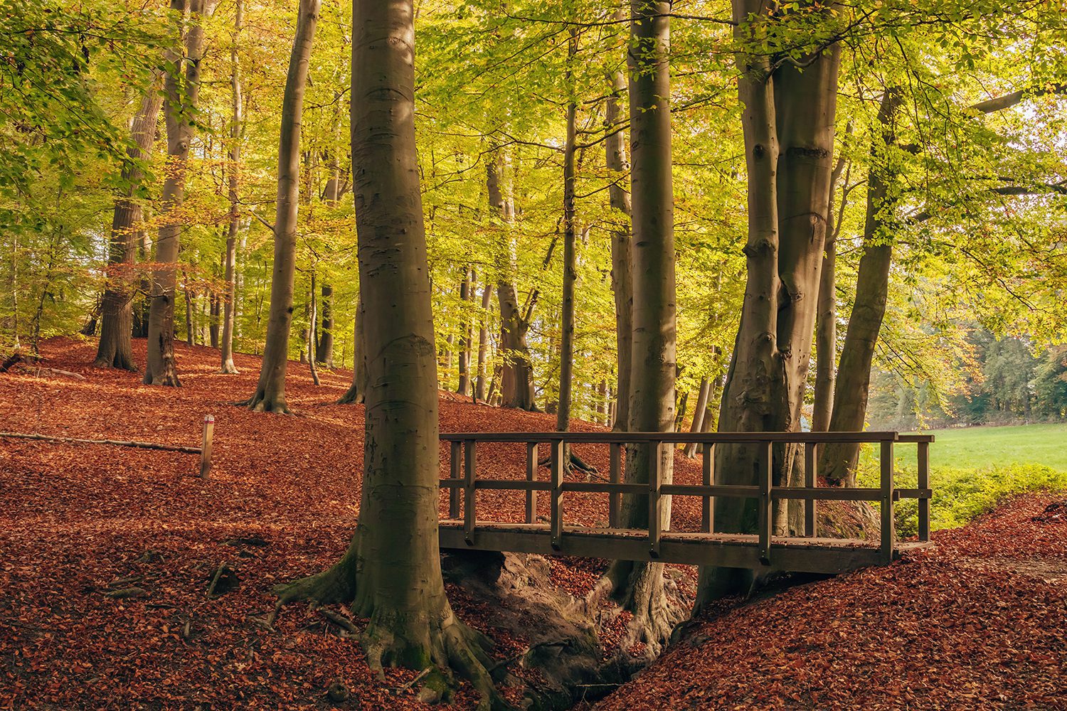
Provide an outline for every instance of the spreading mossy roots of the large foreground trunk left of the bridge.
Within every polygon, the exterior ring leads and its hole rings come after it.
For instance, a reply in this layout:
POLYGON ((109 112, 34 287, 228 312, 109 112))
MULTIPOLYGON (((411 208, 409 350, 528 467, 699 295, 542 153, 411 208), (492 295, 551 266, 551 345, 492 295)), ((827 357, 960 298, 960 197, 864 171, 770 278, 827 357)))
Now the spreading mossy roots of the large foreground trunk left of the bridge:
MULTIPOLYGON (((356 600, 354 556, 346 554, 333 567, 274 588, 277 603, 267 620, 272 627, 282 607, 298 601, 321 604, 353 604, 356 600)), ((366 603, 365 603, 366 607, 366 603)), ((403 666, 416 670, 432 667, 423 679, 419 699, 447 701, 456 689, 453 673, 467 679, 481 695, 479 711, 511 711, 488 669, 492 642, 467 627, 447 607, 412 615, 373 607, 355 611, 369 617, 360 636, 371 669, 403 666)))

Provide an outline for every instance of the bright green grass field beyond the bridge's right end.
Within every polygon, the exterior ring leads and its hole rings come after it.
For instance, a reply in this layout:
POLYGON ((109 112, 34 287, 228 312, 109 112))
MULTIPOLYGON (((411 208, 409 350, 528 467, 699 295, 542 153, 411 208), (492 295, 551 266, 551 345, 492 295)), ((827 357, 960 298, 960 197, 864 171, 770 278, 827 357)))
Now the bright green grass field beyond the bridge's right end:
MULTIPOLYGON (((1042 465, 1067 471, 1067 423, 1008 427, 934 430, 930 467, 983 469, 1010 465, 1042 465)), ((915 465, 915 447, 897 445, 896 459, 915 465)))

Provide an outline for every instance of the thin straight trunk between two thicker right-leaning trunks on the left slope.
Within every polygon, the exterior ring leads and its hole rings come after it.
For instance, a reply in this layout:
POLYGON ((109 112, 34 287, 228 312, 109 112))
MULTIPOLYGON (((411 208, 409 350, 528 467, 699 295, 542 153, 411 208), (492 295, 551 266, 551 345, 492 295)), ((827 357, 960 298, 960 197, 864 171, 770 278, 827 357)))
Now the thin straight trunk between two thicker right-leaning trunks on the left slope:
POLYGON ((229 127, 229 226, 226 231, 225 279, 226 296, 222 310, 222 366, 223 373, 237 373, 234 365, 234 326, 237 321, 237 232, 241 226, 238 210, 240 197, 239 171, 243 132, 243 100, 241 98, 241 63, 237 54, 238 38, 244 23, 244 0, 237 0, 234 15, 234 38, 229 48, 229 87, 233 98, 233 123, 229 127))

